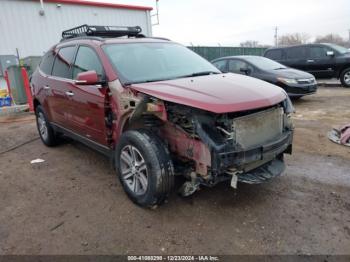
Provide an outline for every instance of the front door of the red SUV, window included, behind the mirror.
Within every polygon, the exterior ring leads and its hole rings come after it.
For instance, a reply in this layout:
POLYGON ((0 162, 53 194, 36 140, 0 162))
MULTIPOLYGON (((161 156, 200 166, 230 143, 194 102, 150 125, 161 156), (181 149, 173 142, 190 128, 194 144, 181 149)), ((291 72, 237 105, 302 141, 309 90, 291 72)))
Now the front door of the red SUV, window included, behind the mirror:
MULTIPOLYGON (((73 79, 81 72, 94 70, 100 80, 106 76, 102 63, 92 47, 81 45, 73 64, 73 79)), ((73 82, 68 92, 70 124, 74 132, 107 145, 105 124, 106 87, 101 85, 79 85, 73 82)))

